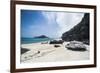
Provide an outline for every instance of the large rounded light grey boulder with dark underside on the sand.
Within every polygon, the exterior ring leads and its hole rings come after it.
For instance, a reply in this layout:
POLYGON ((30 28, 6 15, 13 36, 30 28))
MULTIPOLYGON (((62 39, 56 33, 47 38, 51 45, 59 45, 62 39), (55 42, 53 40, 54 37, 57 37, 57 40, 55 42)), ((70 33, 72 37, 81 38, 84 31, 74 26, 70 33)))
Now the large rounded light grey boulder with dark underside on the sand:
POLYGON ((65 45, 65 47, 73 51, 86 51, 87 50, 85 44, 79 41, 71 41, 70 43, 65 45))

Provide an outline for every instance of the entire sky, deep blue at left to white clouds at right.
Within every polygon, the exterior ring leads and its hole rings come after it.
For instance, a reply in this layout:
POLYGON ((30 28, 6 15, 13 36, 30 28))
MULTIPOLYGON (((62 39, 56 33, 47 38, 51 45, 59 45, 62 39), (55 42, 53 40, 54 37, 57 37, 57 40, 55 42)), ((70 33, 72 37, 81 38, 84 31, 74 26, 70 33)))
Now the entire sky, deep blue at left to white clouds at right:
POLYGON ((84 13, 21 10, 21 37, 59 38, 79 23, 84 13))

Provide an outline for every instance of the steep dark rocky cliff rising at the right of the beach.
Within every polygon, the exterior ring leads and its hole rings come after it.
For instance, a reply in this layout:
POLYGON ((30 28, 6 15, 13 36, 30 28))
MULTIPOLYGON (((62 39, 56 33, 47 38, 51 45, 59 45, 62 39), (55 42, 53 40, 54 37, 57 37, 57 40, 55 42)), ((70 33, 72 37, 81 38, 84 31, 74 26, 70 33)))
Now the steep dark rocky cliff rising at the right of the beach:
POLYGON ((83 41, 89 44, 89 13, 85 13, 82 21, 62 34, 64 41, 83 41))

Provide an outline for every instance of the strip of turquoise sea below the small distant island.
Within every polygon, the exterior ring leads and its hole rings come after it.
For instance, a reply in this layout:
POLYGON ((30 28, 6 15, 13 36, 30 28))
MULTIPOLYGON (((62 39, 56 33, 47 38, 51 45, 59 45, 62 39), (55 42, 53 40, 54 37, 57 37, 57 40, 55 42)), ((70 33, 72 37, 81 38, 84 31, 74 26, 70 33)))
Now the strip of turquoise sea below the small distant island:
POLYGON ((21 44, 38 43, 43 41, 50 41, 50 38, 21 38, 21 44))

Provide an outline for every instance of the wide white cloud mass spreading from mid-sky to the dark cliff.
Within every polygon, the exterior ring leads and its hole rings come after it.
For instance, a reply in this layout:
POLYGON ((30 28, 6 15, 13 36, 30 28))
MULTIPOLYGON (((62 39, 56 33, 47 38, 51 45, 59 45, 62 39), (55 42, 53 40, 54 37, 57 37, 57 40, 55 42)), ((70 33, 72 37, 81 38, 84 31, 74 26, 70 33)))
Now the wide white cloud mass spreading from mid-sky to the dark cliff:
POLYGON ((42 12, 46 18, 49 26, 55 27, 54 30, 57 36, 61 36, 62 33, 70 30, 77 25, 83 18, 84 13, 71 13, 71 12, 42 12))

